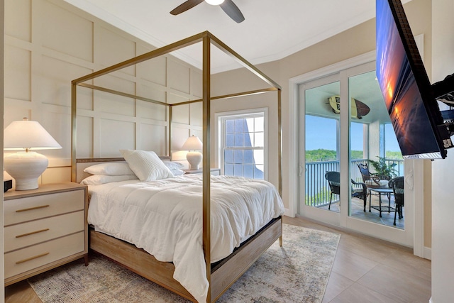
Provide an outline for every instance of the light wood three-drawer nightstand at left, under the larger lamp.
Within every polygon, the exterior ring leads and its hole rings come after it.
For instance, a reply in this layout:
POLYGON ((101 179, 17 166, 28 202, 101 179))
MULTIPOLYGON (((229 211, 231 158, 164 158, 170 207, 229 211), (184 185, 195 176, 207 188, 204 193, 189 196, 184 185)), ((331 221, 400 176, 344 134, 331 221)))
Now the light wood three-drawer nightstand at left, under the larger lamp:
POLYGON ((84 258, 87 186, 65 182, 4 193, 5 286, 84 258))

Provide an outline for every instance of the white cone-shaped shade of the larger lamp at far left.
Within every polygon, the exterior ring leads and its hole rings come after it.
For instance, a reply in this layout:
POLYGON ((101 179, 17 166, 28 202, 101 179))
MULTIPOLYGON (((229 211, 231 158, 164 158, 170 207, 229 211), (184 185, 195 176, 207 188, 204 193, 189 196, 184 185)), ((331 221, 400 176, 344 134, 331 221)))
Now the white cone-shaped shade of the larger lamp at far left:
POLYGON ((62 148, 38 121, 13 121, 4 130, 5 150, 48 150, 62 148))

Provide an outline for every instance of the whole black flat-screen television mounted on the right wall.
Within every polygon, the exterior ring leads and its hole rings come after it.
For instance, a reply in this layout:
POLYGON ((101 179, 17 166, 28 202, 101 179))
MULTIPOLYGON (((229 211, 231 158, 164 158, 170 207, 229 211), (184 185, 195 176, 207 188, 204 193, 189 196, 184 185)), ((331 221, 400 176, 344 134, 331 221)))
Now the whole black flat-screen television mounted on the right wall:
MULTIPOLYGON (((404 158, 453 147, 400 0, 377 0, 377 79, 404 158)), ((454 90, 454 89, 453 89, 454 90)))

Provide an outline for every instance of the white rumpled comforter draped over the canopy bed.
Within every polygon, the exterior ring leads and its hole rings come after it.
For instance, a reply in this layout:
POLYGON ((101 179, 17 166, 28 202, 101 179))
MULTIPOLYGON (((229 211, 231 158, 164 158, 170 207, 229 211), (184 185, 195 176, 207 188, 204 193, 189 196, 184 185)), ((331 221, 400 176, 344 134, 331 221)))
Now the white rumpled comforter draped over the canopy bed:
MULTIPOLYGON (((206 302, 201 177, 89 186, 88 222, 96 231, 133 243, 157 260, 172 261, 175 280, 198 302, 206 302)), ((211 176, 211 262, 231 254, 283 213, 282 200, 269 182, 211 176)))

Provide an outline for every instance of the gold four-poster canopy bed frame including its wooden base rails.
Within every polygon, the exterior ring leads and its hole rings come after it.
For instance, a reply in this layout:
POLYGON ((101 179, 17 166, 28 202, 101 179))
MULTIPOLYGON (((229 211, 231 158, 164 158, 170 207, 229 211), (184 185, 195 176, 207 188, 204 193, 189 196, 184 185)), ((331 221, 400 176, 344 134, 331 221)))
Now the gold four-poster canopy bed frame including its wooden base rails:
MULTIPOLYGON (((169 109, 169 128, 168 128, 168 137, 169 142, 168 153, 172 152, 172 107, 179 106, 182 104, 191 104, 194 102, 202 102, 202 111, 203 111, 203 167, 211 167, 211 156, 210 156, 210 104, 211 100, 214 99, 228 99, 231 97, 240 97, 248 96, 251 94, 258 94, 264 92, 277 92, 277 155, 278 155, 278 170, 279 170, 279 194, 282 195, 282 122, 281 122, 281 88, 277 83, 272 79, 267 77, 258 70, 255 66, 251 65, 243 57, 240 57, 235 53, 231 48, 228 48, 227 45, 218 40, 209 32, 199 33, 192 37, 179 40, 176 43, 172 43, 162 48, 152 50, 149 53, 139 55, 130 60, 120 62, 111 67, 106 67, 92 74, 86 75, 84 77, 79 77, 72 81, 72 172, 71 177, 73 182, 80 181, 80 172, 81 168, 78 168, 78 165, 87 166, 92 162, 110 162, 110 161, 123 161, 123 158, 90 158, 90 159, 79 159, 77 158, 77 87, 86 87, 89 89, 99 90, 101 92, 108 92, 111 94, 117 94, 123 97, 128 97, 132 99, 138 99, 143 101, 150 101, 154 104, 162 104, 167 106, 169 109), (121 70, 125 67, 136 65, 145 60, 153 59, 161 55, 166 55, 175 50, 193 45, 195 43, 200 43, 202 46, 203 53, 203 62, 202 62, 202 99, 184 101, 177 104, 167 104, 161 101, 156 101, 153 99, 148 99, 145 97, 135 96, 133 94, 127 94, 124 92, 118 92, 113 89, 108 89, 104 87, 98 87, 93 84, 85 83, 89 80, 95 79, 102 75, 107 75, 111 72, 121 70), (236 62, 239 62, 240 65, 243 65, 246 69, 253 73, 253 75, 262 79, 267 85, 265 89, 258 89, 248 92, 238 92, 235 94, 228 94, 223 96, 211 96, 211 44, 215 45, 218 49, 222 50, 223 53, 226 53, 230 57, 233 57, 236 62), (77 175, 79 174, 79 176, 77 175)), ((162 158, 165 160, 170 160, 170 155, 166 155, 162 158)), ((279 243, 282 246, 282 217, 279 216, 277 219, 273 219, 263 227, 255 236, 242 243, 239 248, 233 251, 231 255, 227 258, 219 261, 216 264, 211 264, 210 256, 210 170, 203 170, 203 190, 202 190, 202 200, 203 200, 203 250, 204 258, 206 263, 206 278, 209 282, 209 290, 206 302, 215 302, 216 299, 221 297, 221 294, 228 290, 229 287, 238 280, 238 277, 243 275, 243 273, 248 270, 250 265, 252 265, 255 260, 257 260, 262 253, 267 250, 272 243, 275 243, 279 239, 279 243)), ((142 275, 143 277, 156 282, 157 284, 175 292, 182 297, 190 299, 195 302, 192 294, 182 287, 176 280, 173 279, 173 271, 175 266, 172 263, 160 262, 157 261, 153 255, 145 252, 145 250, 136 248, 130 243, 118 240, 111 236, 107 236, 104 233, 99 233, 94 230, 90 232, 90 248, 97 253, 101 253, 108 258, 121 263, 121 265, 132 270, 133 272, 142 275)))

